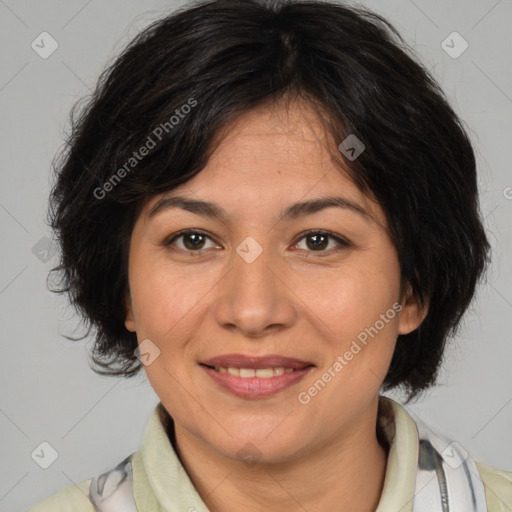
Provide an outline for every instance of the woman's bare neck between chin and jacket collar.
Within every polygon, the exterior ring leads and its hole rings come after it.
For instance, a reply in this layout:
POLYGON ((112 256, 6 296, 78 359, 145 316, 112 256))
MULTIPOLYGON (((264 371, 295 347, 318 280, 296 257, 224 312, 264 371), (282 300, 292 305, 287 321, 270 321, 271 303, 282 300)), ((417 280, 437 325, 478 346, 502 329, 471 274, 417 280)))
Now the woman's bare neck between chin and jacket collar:
POLYGON ((388 449, 378 435, 377 409, 378 397, 357 425, 292 462, 252 466, 219 455, 203 440, 174 425, 163 411, 161 418, 211 512, 233 510, 234 504, 237 509, 254 512, 370 512, 380 500, 388 449))

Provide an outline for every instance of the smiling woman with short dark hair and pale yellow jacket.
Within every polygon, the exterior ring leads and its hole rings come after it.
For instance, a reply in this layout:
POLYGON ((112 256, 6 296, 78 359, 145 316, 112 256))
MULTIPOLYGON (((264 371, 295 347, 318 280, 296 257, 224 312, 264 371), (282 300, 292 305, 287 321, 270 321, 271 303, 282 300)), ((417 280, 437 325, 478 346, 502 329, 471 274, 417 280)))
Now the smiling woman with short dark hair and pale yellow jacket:
POLYGON ((61 290, 141 448, 32 511, 464 510, 512 474, 413 421, 488 261, 474 153, 381 17, 218 0, 139 35, 58 165, 61 290))

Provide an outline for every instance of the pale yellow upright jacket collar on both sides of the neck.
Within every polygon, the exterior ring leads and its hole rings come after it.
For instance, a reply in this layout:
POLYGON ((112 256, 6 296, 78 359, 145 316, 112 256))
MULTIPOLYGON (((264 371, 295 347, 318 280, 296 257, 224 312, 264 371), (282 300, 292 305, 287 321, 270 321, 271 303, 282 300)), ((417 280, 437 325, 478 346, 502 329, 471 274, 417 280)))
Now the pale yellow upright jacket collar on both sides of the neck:
MULTIPOLYGON (((379 424, 389 452, 376 512, 412 512, 418 431, 407 411, 387 397, 379 400, 379 424)), ((148 422, 141 449, 132 459, 135 500, 141 510, 208 512, 169 440, 173 432, 172 421, 160 402, 148 422)))

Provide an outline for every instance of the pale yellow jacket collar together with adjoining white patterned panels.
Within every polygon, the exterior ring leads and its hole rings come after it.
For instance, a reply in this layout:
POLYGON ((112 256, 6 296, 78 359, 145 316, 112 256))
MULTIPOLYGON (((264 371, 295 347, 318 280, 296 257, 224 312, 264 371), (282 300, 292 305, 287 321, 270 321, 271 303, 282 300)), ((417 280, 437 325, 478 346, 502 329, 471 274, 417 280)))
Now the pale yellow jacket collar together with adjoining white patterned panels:
MULTIPOLYGON (((476 463, 464 448, 435 434, 421 420, 413 421, 387 397, 379 400, 378 436, 387 446, 388 460, 376 512, 487 510, 476 463)), ((174 445, 172 418, 160 402, 141 449, 91 482, 90 498, 96 508, 104 512, 208 512, 174 445)))

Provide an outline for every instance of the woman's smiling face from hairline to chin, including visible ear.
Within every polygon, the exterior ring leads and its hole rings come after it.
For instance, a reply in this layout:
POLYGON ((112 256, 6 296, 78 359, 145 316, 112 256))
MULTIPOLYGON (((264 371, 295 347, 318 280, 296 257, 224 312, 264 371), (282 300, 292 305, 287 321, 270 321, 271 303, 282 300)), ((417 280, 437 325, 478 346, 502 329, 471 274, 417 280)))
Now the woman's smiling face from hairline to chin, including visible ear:
POLYGON ((291 460, 375 431, 396 338, 424 314, 401 300, 382 209, 334 166, 307 105, 230 128, 138 218, 126 327, 177 432, 230 458, 291 460), (194 203, 159 203, 178 196, 194 203))

